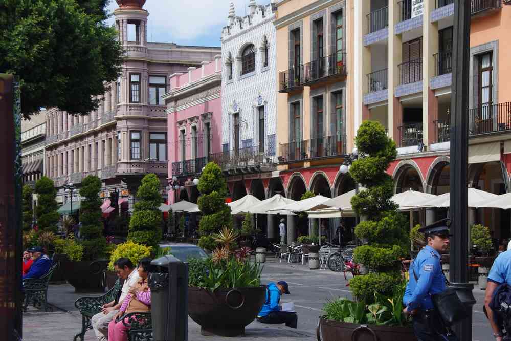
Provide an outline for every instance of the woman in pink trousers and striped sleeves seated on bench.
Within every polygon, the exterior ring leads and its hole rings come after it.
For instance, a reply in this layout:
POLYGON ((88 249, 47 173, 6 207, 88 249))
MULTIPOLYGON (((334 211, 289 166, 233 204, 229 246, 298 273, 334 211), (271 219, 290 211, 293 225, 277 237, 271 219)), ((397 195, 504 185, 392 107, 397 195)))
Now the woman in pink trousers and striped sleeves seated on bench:
POLYGON ((129 293, 124 299, 121 308, 114 319, 108 325, 109 341, 127 341, 129 327, 123 323, 123 316, 131 312, 148 312, 151 309, 151 290, 147 286, 147 274, 151 259, 142 258, 139 262, 137 271, 139 281, 134 287, 130 287, 129 293))

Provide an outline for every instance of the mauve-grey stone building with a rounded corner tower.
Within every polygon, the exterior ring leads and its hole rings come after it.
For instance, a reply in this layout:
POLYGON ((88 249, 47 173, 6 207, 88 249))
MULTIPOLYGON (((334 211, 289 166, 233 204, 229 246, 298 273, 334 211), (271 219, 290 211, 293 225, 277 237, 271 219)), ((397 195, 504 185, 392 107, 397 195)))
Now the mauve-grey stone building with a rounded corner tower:
POLYGON ((79 186, 90 174, 101 178, 102 197, 117 189, 120 202, 126 203, 136 194, 141 179, 155 173, 165 196, 168 139, 162 96, 168 77, 212 61, 220 52, 218 48, 148 42, 145 1, 117 3, 115 25, 126 50, 119 78, 106 84, 97 111, 86 116, 57 109, 47 113, 46 173, 55 180, 60 198, 64 184, 79 186))

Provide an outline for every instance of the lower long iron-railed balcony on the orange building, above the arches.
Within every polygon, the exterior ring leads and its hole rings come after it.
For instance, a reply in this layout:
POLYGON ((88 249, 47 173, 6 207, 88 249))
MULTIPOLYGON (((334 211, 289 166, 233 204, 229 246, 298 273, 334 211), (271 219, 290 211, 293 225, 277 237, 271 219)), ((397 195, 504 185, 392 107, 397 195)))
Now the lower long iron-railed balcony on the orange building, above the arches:
POLYGON ((346 135, 323 136, 280 144, 279 163, 343 156, 345 154, 346 135))

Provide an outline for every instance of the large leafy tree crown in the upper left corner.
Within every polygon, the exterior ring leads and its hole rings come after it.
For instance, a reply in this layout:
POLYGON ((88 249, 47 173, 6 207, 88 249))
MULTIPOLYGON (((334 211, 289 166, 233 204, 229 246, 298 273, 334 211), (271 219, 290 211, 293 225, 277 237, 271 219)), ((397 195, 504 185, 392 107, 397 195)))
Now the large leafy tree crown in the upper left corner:
POLYGON ((19 77, 21 111, 96 110, 123 50, 108 27, 110 0, 0 0, 0 72, 19 77))

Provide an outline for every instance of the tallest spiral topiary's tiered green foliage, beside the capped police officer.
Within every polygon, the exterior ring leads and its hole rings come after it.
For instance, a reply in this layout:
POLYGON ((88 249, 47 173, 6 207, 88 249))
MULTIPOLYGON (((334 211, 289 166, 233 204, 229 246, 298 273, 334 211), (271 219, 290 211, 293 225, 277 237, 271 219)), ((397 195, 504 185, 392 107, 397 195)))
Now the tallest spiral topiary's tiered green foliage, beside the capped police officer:
POLYGON ((397 212, 393 182, 386 173, 397 155, 394 141, 387 137, 379 122, 365 121, 360 126, 355 144, 358 160, 350 168, 351 177, 367 190, 351 199, 358 215, 367 219, 355 228, 355 235, 364 241, 354 250, 353 258, 369 273, 354 277, 350 288, 358 300, 374 301, 374 293, 391 296, 401 283, 398 258, 410 248, 406 217, 397 212))

